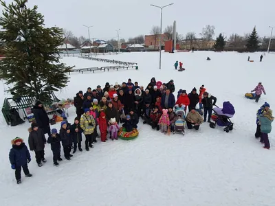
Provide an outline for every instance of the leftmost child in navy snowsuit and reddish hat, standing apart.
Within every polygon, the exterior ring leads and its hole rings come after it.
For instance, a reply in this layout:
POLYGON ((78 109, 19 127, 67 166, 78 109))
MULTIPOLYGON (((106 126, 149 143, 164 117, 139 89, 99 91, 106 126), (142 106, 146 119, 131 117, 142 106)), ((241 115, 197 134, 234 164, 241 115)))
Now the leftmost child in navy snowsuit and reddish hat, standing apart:
POLYGON ((30 152, 27 146, 25 146, 23 139, 17 137, 12 140, 12 148, 10 149, 9 157, 12 170, 15 170, 17 184, 21 184, 21 168, 23 168, 25 176, 32 176, 28 169, 28 163, 31 161, 30 152))

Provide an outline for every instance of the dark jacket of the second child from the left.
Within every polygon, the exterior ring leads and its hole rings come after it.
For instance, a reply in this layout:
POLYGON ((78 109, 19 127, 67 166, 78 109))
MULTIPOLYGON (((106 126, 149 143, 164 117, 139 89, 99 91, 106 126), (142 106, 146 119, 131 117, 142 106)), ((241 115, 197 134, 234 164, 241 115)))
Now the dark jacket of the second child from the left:
POLYGON ((30 150, 34 150, 34 152, 39 152, 44 150, 45 144, 47 142, 43 130, 39 128, 37 131, 29 129, 29 146, 30 150))

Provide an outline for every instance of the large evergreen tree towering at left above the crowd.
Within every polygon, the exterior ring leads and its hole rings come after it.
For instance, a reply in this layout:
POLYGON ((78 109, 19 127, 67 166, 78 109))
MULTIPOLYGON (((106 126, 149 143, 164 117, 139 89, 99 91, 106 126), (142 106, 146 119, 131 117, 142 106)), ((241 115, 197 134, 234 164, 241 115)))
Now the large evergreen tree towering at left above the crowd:
POLYGON ((72 67, 60 63, 58 46, 63 44, 63 32, 58 27, 44 27, 44 16, 37 6, 27 8, 28 0, 14 0, 3 6, 0 40, 5 41, 0 61, 0 78, 12 85, 14 95, 28 95, 49 101, 52 91, 66 86, 67 72, 72 67))

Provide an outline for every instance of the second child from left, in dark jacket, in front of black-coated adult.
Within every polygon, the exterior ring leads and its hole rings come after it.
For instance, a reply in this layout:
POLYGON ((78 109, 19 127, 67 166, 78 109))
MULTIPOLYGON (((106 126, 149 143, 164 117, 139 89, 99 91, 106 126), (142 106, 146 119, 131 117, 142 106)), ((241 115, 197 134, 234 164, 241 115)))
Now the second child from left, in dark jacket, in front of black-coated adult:
POLYGON ((44 132, 36 123, 32 123, 32 127, 28 129, 29 135, 29 146, 30 150, 35 152, 36 163, 39 167, 42 166, 41 161, 45 163, 47 160, 44 155, 44 148, 47 142, 44 132))

